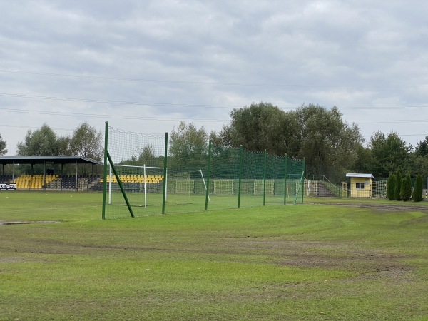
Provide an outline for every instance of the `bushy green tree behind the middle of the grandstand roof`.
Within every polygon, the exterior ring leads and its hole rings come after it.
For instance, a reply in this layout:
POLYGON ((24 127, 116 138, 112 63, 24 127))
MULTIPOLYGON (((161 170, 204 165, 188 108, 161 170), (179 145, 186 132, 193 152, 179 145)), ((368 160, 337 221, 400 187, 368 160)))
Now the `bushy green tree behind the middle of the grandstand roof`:
POLYGON ((23 142, 16 146, 18 156, 50 156, 60 155, 56 133, 46 123, 36 131, 26 133, 23 142))

